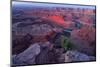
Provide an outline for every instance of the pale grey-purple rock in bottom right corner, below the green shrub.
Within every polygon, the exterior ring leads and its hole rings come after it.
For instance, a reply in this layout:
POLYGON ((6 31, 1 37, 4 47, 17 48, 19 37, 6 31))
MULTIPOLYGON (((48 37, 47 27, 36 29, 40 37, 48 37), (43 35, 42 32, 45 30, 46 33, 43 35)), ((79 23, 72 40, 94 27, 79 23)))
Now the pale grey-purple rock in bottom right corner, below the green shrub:
POLYGON ((78 51, 67 51, 65 53, 65 62, 77 62, 77 61, 94 61, 94 56, 88 56, 78 51))

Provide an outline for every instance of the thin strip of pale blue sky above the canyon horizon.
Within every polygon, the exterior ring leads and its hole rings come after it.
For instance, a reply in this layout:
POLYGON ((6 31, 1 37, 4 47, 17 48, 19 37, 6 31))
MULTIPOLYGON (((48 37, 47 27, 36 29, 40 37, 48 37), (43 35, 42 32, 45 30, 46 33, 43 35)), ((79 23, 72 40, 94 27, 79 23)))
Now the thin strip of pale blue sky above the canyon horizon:
POLYGON ((73 8, 88 8, 88 9, 95 9, 95 6, 83 6, 83 5, 71 5, 71 4, 47 4, 47 3, 34 3, 34 2, 18 2, 13 1, 13 6, 16 5, 25 5, 25 6, 41 6, 41 7, 73 7, 73 8))

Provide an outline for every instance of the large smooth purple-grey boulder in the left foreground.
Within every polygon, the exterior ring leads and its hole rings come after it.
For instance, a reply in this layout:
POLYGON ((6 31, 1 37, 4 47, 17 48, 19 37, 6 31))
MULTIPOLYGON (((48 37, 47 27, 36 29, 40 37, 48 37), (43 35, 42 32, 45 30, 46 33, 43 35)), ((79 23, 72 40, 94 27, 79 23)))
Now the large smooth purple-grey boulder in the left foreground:
POLYGON ((35 64, 35 57, 40 53, 40 46, 35 43, 32 44, 24 52, 13 56, 14 65, 28 65, 35 64))

